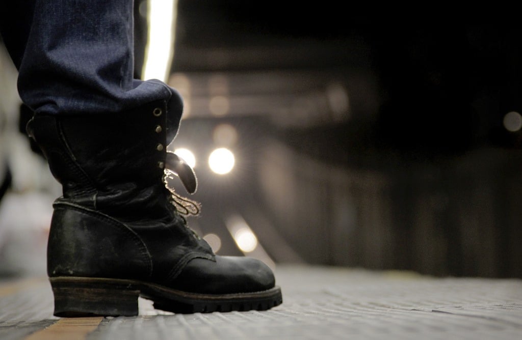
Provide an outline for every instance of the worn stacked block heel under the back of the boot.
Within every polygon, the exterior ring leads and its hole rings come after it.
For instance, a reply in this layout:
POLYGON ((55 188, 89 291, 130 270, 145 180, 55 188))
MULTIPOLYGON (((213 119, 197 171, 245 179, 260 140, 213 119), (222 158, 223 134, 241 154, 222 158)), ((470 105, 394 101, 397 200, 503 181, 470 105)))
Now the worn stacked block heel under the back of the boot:
POLYGON ((138 315, 139 289, 130 284, 87 277, 52 277, 49 281, 57 317, 138 315))

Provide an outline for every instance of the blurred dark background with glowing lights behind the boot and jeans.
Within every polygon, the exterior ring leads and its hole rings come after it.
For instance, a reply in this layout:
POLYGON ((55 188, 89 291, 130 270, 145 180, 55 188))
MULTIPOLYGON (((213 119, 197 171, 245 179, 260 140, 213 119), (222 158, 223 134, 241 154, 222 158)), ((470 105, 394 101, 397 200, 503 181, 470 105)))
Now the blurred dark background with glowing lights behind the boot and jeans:
MULTIPOLYGON (((203 209, 188 222, 218 254, 522 277, 519 26, 332 1, 154 3, 135 1, 136 77, 184 98, 170 148, 193 162, 203 209)), ((0 275, 45 273, 61 188, 0 51, 0 275)))

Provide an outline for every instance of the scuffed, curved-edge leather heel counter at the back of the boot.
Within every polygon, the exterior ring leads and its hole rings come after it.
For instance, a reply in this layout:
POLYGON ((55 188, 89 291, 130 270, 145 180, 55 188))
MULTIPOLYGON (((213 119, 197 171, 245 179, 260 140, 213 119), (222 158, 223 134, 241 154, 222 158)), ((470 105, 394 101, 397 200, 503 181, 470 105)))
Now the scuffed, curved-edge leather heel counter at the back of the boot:
POLYGON ((146 279, 152 260, 143 240, 110 217, 57 204, 48 241, 49 276, 146 279), (129 277, 131 278, 131 277, 129 277))

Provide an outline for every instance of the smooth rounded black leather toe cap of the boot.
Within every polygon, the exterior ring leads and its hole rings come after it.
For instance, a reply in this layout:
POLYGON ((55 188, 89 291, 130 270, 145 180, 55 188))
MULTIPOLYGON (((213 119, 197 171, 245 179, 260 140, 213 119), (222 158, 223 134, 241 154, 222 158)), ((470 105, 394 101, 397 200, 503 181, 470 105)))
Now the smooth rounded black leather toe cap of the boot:
POLYGON ((272 270, 257 259, 216 256, 216 262, 191 260, 169 286, 202 294, 252 293, 274 288, 275 277, 272 270))

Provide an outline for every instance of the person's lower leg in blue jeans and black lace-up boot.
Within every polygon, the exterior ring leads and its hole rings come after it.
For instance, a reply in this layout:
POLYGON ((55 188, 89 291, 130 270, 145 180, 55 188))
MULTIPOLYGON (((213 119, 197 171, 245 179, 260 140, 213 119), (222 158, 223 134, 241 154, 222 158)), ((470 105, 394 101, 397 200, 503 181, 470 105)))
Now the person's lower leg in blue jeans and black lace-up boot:
POLYGON ((54 313, 136 315, 138 296, 174 312, 279 305, 271 270, 216 256, 182 216, 197 207, 165 186, 175 172, 196 187, 166 150, 183 105, 163 82, 133 79, 132 11, 132 0, 37 0, 18 59, 28 133, 63 186, 48 245, 54 313))

